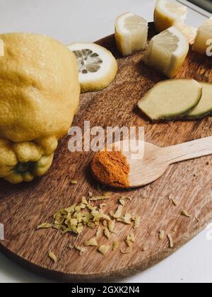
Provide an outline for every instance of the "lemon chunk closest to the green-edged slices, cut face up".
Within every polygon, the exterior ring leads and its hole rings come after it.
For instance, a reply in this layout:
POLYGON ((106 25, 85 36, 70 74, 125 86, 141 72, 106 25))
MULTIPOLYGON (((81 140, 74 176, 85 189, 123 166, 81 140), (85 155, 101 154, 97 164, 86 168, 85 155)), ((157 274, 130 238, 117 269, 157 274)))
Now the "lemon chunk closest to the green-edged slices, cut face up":
POLYGON ((175 27, 155 35, 148 45, 143 62, 173 78, 189 52, 189 42, 175 27))

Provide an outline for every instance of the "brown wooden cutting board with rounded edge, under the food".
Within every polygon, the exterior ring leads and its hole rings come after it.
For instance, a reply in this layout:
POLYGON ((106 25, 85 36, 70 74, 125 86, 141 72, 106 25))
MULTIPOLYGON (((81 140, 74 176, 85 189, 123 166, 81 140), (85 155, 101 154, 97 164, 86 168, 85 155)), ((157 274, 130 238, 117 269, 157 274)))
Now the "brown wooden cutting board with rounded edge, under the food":
MULTIPOLYGON (((150 28, 152 36, 155 34, 152 24, 150 28)), ((171 146, 211 136, 212 117, 190 122, 146 122, 136 104, 146 91, 165 77, 141 62, 142 52, 124 59, 119 57, 113 35, 105 37, 98 44, 107 47, 117 57, 119 72, 106 90, 81 95, 74 126, 83 127, 85 120, 90 120, 91 127, 141 126, 145 127, 146 141, 158 146, 171 146)), ((211 67, 211 58, 190 51, 178 78, 212 82, 211 67)), ((133 198, 124 206, 124 210, 141 216, 141 224, 135 232, 136 243, 127 255, 117 250, 103 256, 96 248, 90 248, 86 255, 80 257, 76 250, 69 250, 67 245, 75 240, 78 245, 83 245, 95 231, 88 229, 78 238, 71 234, 62 235, 52 229, 35 231, 38 224, 51 222, 52 215, 58 209, 80 202, 88 191, 96 193, 96 182, 89 170, 93 153, 70 153, 68 141, 69 136, 60 142, 54 164, 45 177, 18 186, 0 182, 0 222, 4 223, 5 228, 5 240, 1 240, 0 248, 23 267, 59 281, 114 280, 141 272, 163 260, 212 220, 212 160, 209 156, 172 165, 163 177, 146 187, 130 192, 112 190, 108 211, 117 207, 120 195, 133 198), (78 180, 78 184, 70 185, 71 180, 78 180), (174 206, 167 199, 169 194, 179 201, 179 206, 174 206), (183 209, 192 214, 192 218, 181 216, 183 209), (166 237, 164 240, 158 239, 160 229, 172 236, 174 248, 170 248, 166 237), (57 255, 57 264, 49 259, 50 250, 57 255)), ((116 231, 117 235, 113 235, 109 243, 117 238, 124 240, 132 229, 118 223, 116 231)), ((107 244, 106 238, 102 237, 99 243, 107 244)), ((121 248, 125 248, 124 243, 121 248)))

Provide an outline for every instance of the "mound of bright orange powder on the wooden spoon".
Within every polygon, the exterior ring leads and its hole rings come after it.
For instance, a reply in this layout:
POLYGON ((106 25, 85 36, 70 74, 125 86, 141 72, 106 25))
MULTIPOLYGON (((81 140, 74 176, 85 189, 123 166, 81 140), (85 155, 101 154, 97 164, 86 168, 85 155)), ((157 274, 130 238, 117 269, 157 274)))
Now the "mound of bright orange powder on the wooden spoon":
POLYGON ((96 180, 111 187, 129 187, 129 164, 121 151, 100 151, 91 163, 96 180))

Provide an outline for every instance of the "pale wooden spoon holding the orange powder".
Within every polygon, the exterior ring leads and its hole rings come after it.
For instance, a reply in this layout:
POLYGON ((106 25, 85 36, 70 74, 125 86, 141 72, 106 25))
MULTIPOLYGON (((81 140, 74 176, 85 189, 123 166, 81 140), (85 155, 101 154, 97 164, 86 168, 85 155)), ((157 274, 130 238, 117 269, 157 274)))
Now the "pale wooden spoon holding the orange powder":
MULTIPOLYGON (((114 144, 122 147, 124 141, 114 144)), ((123 152, 130 165, 130 187, 141 187, 158 180, 174 163, 200 158, 212 154, 212 136, 198 139, 177 146, 161 148, 144 142, 143 158, 134 158, 134 152, 123 152)))

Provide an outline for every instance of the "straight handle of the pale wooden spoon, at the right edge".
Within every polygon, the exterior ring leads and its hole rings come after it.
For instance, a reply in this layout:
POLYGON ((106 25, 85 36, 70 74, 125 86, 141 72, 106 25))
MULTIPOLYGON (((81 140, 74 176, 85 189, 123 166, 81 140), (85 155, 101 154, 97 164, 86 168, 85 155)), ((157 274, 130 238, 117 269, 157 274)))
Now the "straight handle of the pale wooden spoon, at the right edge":
POLYGON ((212 155, 212 136, 165 148, 170 164, 212 155))

